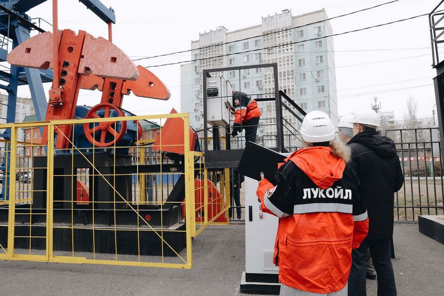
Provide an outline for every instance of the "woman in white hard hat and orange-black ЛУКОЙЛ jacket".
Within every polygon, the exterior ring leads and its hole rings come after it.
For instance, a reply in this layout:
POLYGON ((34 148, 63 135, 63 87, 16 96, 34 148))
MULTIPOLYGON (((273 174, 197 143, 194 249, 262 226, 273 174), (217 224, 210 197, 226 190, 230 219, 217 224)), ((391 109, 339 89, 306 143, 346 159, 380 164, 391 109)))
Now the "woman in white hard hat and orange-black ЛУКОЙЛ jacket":
POLYGON ((285 159, 276 186, 261 174, 257 190, 261 210, 280 218, 274 257, 280 295, 346 296, 351 249, 369 227, 358 177, 347 164, 351 150, 321 111, 305 116, 300 134, 307 148, 285 159))

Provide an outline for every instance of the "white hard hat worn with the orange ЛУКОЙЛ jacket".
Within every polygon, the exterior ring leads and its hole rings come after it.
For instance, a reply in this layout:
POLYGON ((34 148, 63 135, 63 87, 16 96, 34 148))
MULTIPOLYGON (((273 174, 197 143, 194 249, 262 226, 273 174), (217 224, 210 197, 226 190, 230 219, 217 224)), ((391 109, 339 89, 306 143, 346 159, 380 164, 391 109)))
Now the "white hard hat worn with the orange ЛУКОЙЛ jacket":
POLYGON ((326 113, 317 110, 305 115, 299 132, 308 143, 330 142, 335 137, 332 120, 326 113))

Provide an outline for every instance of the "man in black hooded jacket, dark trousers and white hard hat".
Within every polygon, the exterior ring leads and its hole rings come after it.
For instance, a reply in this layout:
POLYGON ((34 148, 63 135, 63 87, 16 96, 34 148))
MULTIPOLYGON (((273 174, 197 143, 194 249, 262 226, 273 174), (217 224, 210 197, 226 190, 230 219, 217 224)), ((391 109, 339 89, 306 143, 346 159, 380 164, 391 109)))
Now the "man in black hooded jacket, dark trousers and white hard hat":
POLYGON ((359 194, 367 204, 369 234, 360 247, 352 251, 349 296, 366 296, 366 249, 377 274, 378 296, 395 296, 396 285, 391 265, 394 192, 404 184, 395 144, 379 135, 379 116, 362 111, 353 116, 353 138, 349 142, 351 159, 358 174, 359 194))

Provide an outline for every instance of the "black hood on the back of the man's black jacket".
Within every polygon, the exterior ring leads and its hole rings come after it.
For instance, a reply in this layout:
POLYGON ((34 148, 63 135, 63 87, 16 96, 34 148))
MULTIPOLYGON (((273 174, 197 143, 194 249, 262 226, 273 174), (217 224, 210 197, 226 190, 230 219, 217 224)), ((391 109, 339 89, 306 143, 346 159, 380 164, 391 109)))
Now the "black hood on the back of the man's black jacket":
POLYGON ((360 143, 384 158, 396 155, 395 143, 388 137, 381 136, 377 131, 363 131, 351 138, 349 144, 360 143))

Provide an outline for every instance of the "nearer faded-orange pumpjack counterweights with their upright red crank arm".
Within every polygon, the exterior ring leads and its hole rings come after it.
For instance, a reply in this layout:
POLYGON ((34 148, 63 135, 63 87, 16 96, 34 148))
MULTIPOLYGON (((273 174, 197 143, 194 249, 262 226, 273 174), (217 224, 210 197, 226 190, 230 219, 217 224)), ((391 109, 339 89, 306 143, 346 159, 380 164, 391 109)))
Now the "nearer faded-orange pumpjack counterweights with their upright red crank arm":
MULTIPOLYGON (((12 65, 48 69, 59 64, 61 88, 50 90, 46 120, 74 118, 80 82, 84 75, 135 80, 139 77, 131 59, 109 40, 94 38, 85 31, 66 29, 58 32, 58 61, 53 61, 51 32, 29 38, 13 49, 7 57, 12 65), (64 87, 66 85, 66 87, 64 87)), ((68 148, 72 125, 57 127, 56 148, 68 148)), ((47 142, 47 130, 42 135, 42 145, 47 142)))

